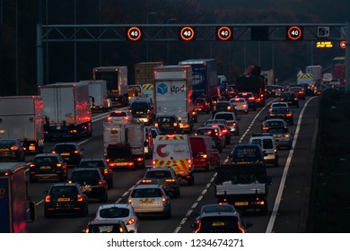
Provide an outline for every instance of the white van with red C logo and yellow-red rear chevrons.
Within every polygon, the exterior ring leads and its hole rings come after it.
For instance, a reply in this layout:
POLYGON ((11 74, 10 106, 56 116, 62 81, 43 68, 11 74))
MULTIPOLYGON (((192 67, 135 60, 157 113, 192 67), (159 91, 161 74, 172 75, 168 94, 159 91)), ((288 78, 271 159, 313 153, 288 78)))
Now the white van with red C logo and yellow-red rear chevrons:
POLYGON ((192 151, 187 134, 158 135, 154 140, 153 167, 171 167, 180 181, 194 184, 192 151))

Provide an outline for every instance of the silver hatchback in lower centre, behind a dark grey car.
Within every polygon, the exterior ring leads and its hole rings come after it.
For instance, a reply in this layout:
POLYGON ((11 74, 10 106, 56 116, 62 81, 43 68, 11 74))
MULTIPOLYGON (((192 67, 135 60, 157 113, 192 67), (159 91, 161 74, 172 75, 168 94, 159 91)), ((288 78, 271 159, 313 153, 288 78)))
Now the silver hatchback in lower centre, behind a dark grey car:
POLYGON ((171 199, 162 185, 139 184, 128 196, 128 203, 134 208, 136 215, 162 214, 164 218, 171 217, 171 199))

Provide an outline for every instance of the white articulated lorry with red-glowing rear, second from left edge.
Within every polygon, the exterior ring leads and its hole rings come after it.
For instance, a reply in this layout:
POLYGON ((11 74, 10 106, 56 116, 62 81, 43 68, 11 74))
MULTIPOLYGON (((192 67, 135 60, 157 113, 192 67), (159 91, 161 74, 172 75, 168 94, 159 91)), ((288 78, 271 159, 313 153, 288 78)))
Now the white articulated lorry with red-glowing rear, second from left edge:
POLYGON ((57 82, 39 87, 44 101, 44 137, 89 137, 92 135, 92 109, 85 82, 57 82))

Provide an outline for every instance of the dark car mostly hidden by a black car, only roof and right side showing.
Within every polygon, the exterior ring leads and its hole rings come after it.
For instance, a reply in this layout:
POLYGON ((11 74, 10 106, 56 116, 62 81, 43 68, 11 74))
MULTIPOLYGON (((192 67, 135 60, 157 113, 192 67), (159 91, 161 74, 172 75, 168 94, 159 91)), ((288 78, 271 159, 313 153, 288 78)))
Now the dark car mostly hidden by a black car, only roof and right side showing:
POLYGON ((77 167, 78 169, 99 168, 101 173, 107 181, 109 188, 113 187, 113 170, 109 169, 106 160, 102 158, 96 159, 82 159, 77 167))

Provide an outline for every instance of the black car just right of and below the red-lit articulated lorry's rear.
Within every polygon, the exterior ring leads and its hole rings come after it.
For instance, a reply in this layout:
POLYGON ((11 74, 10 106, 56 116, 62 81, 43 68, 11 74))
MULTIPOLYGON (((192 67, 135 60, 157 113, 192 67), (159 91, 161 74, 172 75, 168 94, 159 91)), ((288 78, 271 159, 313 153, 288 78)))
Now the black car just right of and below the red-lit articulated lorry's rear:
POLYGON ((83 159, 83 148, 77 143, 57 143, 52 153, 58 153, 68 166, 76 167, 83 159))

